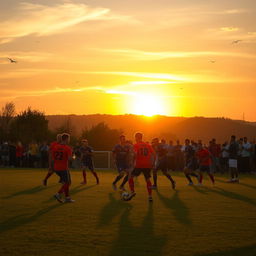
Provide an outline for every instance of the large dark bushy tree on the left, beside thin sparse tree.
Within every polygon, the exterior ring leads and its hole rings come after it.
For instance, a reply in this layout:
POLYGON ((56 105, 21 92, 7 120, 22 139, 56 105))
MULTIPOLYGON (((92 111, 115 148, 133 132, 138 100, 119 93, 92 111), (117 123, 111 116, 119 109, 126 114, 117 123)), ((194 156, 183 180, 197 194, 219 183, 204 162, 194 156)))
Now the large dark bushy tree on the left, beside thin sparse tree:
POLYGON ((46 140, 49 135, 48 120, 43 112, 32 110, 30 107, 18 114, 10 127, 12 140, 23 143, 46 140))

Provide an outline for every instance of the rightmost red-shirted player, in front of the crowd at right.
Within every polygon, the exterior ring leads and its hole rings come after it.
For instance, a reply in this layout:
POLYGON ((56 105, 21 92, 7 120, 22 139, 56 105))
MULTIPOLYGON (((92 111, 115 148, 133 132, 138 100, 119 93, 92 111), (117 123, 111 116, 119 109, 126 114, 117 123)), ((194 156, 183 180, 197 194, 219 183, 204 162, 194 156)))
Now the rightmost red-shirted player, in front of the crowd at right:
POLYGON ((197 144, 198 151, 196 152, 196 157, 199 162, 199 173, 200 173, 200 178, 199 178, 199 183, 198 185, 202 185, 203 181, 203 173, 206 172, 208 176, 210 177, 212 184, 214 185, 214 176, 211 173, 211 153, 206 149, 203 148, 202 143, 197 144))

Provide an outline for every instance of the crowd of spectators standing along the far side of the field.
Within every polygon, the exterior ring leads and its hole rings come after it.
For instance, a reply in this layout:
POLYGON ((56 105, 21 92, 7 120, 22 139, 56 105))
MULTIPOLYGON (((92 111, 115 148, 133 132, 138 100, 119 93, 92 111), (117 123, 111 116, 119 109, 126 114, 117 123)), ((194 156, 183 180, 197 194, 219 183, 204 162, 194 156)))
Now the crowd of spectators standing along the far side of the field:
MULTIPOLYGON (((191 140, 191 145, 197 149, 197 145, 202 141, 191 140)), ((184 168, 184 145, 177 140, 166 142, 161 140, 161 144, 166 147, 168 157, 173 159, 174 170, 182 171, 184 168)), ((240 173, 256 172, 256 142, 249 142, 246 137, 237 140, 239 151, 237 156, 238 171, 240 173)), ((228 171, 229 142, 219 144, 216 139, 212 139, 208 144, 204 144, 211 153, 212 171, 224 173, 228 171)), ((73 148, 73 157, 79 158, 79 144, 73 148)), ((2 142, 0 143, 0 166, 11 168, 48 168, 49 143, 31 142, 22 145, 21 142, 2 142)))

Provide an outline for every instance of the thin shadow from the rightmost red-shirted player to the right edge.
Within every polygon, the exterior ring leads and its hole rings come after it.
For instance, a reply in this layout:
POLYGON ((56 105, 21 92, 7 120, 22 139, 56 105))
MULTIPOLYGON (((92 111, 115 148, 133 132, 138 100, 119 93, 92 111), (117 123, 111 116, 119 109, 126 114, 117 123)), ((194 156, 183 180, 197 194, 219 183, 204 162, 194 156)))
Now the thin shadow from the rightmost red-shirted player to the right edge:
POLYGON ((207 187, 200 187, 200 188, 199 187, 197 187, 197 188, 194 187, 194 188, 195 188, 195 190, 197 190, 200 193, 213 192, 213 193, 219 194, 221 196, 225 196, 225 197, 228 197, 228 198, 231 198, 231 199, 239 200, 239 201, 251 204, 253 206, 256 206, 256 201, 253 200, 252 198, 241 195, 241 194, 237 194, 235 192, 231 192, 231 191, 228 191, 228 190, 225 190, 225 189, 222 189, 222 188, 218 188, 218 187, 215 187, 214 189, 207 188, 207 187))

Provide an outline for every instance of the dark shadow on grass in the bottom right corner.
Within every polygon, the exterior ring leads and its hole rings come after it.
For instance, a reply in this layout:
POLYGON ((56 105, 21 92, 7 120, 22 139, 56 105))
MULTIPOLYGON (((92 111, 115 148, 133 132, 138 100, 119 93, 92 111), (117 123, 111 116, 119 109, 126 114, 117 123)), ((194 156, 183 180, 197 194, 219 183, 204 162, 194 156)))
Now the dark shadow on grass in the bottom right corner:
POLYGON ((194 254, 194 256, 255 256, 256 244, 246 247, 235 248, 222 252, 194 254))

